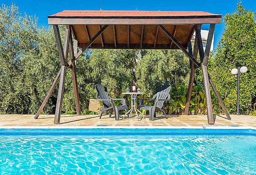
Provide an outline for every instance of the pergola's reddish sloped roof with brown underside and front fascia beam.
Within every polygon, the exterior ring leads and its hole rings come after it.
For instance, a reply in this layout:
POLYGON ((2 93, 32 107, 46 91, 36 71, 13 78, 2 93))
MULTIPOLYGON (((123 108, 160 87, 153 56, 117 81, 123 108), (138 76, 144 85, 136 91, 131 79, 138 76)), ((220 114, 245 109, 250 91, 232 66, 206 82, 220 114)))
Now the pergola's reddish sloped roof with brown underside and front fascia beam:
POLYGON ((195 24, 221 23, 221 15, 203 11, 65 10, 48 16, 48 23, 71 25, 79 47, 108 24, 89 48, 178 49, 158 24, 186 48, 195 24))

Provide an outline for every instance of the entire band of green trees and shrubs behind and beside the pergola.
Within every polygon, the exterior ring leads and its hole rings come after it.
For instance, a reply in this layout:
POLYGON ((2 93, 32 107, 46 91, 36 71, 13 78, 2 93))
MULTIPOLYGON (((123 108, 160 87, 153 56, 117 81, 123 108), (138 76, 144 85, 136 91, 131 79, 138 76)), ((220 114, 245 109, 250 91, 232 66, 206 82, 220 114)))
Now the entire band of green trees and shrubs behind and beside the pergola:
MULTIPOLYGON (((256 97, 256 23, 255 13, 238 9, 224 17, 226 29, 218 44, 216 55, 209 60, 209 73, 229 112, 236 108, 236 80, 230 70, 247 66, 241 78, 241 109, 245 111, 256 97)), ((62 42, 65 27, 60 26, 62 42)), ((68 58, 69 59, 69 58, 68 58)), ((39 109, 60 69, 59 54, 52 27, 38 27, 37 18, 19 13, 18 7, 3 5, 0 9, 0 113, 33 114, 39 109)), ((115 98, 124 98, 121 92, 137 80, 137 87, 152 97, 158 86, 172 84, 168 113, 183 113, 184 97, 189 79, 188 58, 179 50, 109 50, 88 49, 77 60, 77 78, 83 113, 91 113, 89 99, 95 98, 95 84, 108 87, 115 98), (184 84, 181 84, 183 83, 184 84)), ((201 89, 201 73, 196 75, 190 102, 190 112, 204 114, 205 100, 201 89), (202 105, 203 104, 203 105, 202 105)), ((54 113, 58 84, 42 113, 54 113)), ((127 104, 130 97, 127 96, 127 104)), ((220 105, 212 96, 214 110, 220 105)), ((120 102, 115 102, 120 103, 120 102)), ((146 102, 151 105, 153 102, 146 102)), ((72 75, 67 70, 62 113, 75 113, 72 75)))

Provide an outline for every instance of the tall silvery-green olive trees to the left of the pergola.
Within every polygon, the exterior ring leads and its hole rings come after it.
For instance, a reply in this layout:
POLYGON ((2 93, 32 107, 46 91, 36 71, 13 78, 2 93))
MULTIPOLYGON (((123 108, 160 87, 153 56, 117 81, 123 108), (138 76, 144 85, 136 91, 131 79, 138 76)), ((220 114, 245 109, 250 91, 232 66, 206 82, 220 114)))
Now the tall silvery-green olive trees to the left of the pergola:
MULTIPOLYGON (((35 113, 58 73, 54 35, 14 5, 3 5, 0 19, 0 113, 35 113)), ((53 95, 44 112, 55 101, 53 95)))

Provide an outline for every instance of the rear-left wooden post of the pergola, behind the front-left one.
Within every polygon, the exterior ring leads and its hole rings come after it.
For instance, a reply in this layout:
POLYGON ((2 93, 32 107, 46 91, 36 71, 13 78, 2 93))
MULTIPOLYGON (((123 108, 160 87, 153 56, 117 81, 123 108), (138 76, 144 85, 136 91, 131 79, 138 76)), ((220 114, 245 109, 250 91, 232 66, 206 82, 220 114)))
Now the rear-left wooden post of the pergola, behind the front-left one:
MULTIPOLYGON (((75 53, 77 53, 77 44, 78 41, 74 40, 74 44, 72 42, 72 36, 69 40, 69 56, 72 58, 75 53)), ((74 87, 74 94, 75 94, 75 102, 76 102, 76 114, 81 115, 81 108, 80 108, 80 99, 79 99, 79 93, 78 93, 78 83, 77 83, 77 77, 76 77, 76 62, 72 64, 72 82, 74 87)))

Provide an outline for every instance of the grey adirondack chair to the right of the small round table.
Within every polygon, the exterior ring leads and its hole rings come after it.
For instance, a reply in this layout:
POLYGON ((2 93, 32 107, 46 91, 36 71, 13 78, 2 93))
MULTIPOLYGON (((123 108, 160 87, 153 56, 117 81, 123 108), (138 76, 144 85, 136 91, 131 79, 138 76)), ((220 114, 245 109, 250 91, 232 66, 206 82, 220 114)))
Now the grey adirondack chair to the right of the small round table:
POLYGON ((164 113, 165 118, 167 118, 166 113, 164 111, 164 101, 169 101, 171 96, 169 94, 171 90, 170 85, 164 85, 158 87, 157 93, 152 97, 152 99, 140 99, 139 110, 148 110, 150 114, 150 120, 154 120, 155 112, 160 110, 164 113), (155 100, 154 106, 145 106, 144 100, 155 100))

